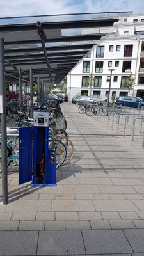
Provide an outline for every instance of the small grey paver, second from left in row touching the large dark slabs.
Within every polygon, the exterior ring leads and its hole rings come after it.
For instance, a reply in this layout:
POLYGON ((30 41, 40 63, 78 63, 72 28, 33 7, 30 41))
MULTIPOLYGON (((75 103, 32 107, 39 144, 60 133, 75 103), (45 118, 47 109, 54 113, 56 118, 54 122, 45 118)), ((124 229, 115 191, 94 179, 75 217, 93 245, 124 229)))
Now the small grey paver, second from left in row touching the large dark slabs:
POLYGON ((19 230, 44 230, 44 221, 20 221, 19 230))

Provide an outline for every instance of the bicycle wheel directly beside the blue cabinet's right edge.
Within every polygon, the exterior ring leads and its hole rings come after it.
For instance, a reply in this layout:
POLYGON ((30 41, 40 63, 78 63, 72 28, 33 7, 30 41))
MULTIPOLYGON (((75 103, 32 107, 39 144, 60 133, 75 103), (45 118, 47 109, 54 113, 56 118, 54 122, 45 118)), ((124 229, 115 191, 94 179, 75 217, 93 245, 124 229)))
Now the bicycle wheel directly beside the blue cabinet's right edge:
POLYGON ((56 149, 56 168, 59 168, 65 161, 67 150, 65 145, 59 140, 54 140, 54 148, 52 146, 53 142, 49 141, 49 148, 56 149))

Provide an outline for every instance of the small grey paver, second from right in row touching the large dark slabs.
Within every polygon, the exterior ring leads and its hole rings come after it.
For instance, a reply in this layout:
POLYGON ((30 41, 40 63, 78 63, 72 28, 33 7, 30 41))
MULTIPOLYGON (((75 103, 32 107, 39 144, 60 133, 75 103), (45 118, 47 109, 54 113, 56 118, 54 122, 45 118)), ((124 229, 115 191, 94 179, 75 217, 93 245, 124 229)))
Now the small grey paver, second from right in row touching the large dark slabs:
POLYGON ((109 223, 113 229, 136 228, 131 220, 109 220, 109 223))

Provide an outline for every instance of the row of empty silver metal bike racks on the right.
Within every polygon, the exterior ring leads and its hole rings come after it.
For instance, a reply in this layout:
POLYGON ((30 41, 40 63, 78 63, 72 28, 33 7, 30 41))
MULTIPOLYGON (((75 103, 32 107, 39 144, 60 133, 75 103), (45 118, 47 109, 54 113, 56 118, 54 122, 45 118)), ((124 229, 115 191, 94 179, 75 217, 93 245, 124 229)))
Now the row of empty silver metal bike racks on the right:
MULTIPOLYGON (((92 107, 93 108, 93 107, 92 107)), ((142 146, 144 147, 144 109, 140 108, 127 108, 122 106, 122 108, 111 108, 108 106, 95 106, 94 114, 92 118, 97 118, 97 121, 103 124, 107 124, 107 127, 111 125, 111 129, 116 127, 116 133, 120 133, 120 126, 123 125, 123 131, 121 135, 126 136, 126 130, 131 126, 131 138, 134 141, 134 136, 142 136, 143 142, 142 146), (137 127, 136 127, 137 123, 137 127), (138 134, 136 134, 136 129, 138 134), (143 131, 142 131, 143 130, 143 131), (143 134, 142 134, 143 133, 143 134)))

